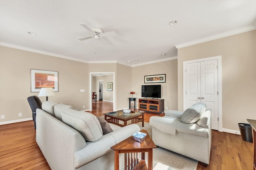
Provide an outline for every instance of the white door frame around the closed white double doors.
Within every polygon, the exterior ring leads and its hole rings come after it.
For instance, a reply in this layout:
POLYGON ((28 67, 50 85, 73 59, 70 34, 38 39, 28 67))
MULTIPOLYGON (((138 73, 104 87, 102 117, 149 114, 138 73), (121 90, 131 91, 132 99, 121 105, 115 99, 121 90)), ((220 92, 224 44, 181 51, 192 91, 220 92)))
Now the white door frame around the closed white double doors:
POLYGON ((201 61, 208 61, 217 59, 218 63, 218 131, 223 131, 222 125, 222 56, 208 57, 202 59, 195 59, 190 61, 183 61, 183 111, 186 108, 186 64, 188 63, 196 63, 201 61))

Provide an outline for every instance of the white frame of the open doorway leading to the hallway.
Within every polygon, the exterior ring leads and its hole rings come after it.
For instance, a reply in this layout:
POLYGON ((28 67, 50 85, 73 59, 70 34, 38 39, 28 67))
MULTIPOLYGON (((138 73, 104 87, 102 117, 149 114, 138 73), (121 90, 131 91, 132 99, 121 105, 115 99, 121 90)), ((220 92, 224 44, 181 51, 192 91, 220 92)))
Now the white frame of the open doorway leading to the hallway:
POLYGON ((116 93, 115 93, 115 72, 90 72, 89 73, 89 111, 92 111, 92 74, 113 74, 113 84, 112 84, 112 89, 113 89, 113 111, 115 111, 116 108, 116 93))

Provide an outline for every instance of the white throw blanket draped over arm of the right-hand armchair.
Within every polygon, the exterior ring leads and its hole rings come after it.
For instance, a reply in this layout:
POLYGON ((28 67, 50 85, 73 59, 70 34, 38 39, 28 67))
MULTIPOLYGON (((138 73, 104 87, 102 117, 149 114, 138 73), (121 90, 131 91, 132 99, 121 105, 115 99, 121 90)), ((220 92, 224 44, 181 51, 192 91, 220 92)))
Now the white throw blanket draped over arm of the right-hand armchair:
POLYGON ((152 127, 157 128, 158 130, 161 130, 162 132, 166 132, 168 134, 176 134, 176 125, 177 122, 180 120, 178 118, 173 118, 173 117, 151 117, 150 118, 150 125, 152 127), (163 121, 164 120, 164 121, 163 121))

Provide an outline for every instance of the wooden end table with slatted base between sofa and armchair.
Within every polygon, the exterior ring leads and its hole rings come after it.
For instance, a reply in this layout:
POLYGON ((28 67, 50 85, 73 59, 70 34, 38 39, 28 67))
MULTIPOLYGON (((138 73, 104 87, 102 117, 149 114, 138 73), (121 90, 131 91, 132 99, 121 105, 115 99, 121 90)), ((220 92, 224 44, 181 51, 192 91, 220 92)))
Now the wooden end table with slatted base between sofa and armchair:
POLYGON ((137 142, 132 136, 119 142, 111 147, 115 152, 115 170, 119 170, 119 154, 124 153, 124 169, 128 170, 153 170, 153 148, 156 145, 148 135, 146 130, 140 130, 140 132, 146 133, 147 136, 143 142, 137 142), (141 152, 141 160, 139 161, 138 153, 141 152), (145 152, 148 152, 148 168, 145 162, 145 152))

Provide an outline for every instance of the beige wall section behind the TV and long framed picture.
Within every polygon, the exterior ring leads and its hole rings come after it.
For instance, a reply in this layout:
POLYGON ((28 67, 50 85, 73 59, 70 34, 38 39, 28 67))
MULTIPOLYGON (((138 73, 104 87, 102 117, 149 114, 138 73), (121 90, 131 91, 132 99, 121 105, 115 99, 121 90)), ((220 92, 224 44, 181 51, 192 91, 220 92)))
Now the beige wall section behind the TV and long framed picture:
MULTIPOLYGON (((162 99, 164 99, 164 110, 178 109, 178 77, 177 77, 177 59, 132 67, 132 89, 135 91, 134 97, 141 98, 141 85, 160 84, 162 90, 162 99), (166 83, 144 83, 145 75, 166 74, 166 83)), ((138 100, 136 101, 138 107, 138 100)))

